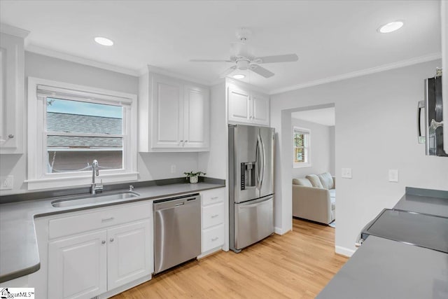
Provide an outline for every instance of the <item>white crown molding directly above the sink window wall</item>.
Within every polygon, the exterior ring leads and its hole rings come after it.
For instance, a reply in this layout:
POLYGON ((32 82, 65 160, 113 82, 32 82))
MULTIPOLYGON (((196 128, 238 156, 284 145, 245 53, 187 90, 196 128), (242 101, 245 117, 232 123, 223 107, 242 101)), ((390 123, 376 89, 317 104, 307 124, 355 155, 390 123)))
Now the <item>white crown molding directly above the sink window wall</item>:
POLYGON ((126 75, 130 75, 130 76, 135 76, 135 77, 139 76, 139 71, 136 71, 134 69, 118 67, 113 64, 99 62, 96 60, 89 60, 87 58, 83 58, 83 57, 79 57, 79 56, 75 56, 75 55, 71 55, 71 54, 66 54, 66 53, 61 53, 61 52, 58 52, 55 50, 50 50, 47 48, 41 48, 39 46, 32 45, 32 44, 28 45, 25 48, 25 50, 27 50, 28 52, 31 52, 31 53, 36 53, 36 54, 40 54, 40 55, 58 58, 60 60, 67 60, 69 62, 76 62, 78 64, 88 65, 89 67, 97 67, 99 69, 106 69, 108 71, 115 71, 116 73, 126 74, 126 75))

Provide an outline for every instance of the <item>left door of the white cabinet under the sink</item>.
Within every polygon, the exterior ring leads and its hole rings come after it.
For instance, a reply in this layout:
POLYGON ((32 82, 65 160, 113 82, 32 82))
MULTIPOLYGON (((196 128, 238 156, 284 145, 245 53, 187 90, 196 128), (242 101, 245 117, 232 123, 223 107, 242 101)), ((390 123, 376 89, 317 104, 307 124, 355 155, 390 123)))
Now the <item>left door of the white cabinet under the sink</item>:
POLYGON ((106 230, 48 244, 48 298, 92 298, 107 291, 106 230))

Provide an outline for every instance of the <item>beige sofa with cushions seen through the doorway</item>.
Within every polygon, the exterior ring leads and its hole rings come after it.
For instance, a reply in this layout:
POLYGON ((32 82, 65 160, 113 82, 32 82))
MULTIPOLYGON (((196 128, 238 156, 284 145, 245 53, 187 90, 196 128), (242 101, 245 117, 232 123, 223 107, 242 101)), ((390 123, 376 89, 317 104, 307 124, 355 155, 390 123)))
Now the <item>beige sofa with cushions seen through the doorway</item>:
POLYGON ((319 223, 335 220, 336 181, 328 172, 293 179, 293 216, 319 223))

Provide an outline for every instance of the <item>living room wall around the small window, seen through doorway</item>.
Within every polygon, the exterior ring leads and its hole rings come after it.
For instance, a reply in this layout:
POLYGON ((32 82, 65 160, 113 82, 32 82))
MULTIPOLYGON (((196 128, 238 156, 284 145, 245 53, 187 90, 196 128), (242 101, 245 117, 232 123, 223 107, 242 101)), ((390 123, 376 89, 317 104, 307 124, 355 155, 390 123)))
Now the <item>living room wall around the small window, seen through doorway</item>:
MULTIPOLYGON (((311 167, 293 168, 293 178, 302 178, 307 174, 321 174, 322 172, 330 172, 331 169, 331 147, 330 144, 330 127, 328 125, 320 125, 309 121, 291 118, 291 132, 293 127, 302 127, 311 130, 310 138, 310 155, 311 167)), ((291 138, 292 137, 291 133, 291 138)), ((291 155, 291 162, 293 155, 291 155)))

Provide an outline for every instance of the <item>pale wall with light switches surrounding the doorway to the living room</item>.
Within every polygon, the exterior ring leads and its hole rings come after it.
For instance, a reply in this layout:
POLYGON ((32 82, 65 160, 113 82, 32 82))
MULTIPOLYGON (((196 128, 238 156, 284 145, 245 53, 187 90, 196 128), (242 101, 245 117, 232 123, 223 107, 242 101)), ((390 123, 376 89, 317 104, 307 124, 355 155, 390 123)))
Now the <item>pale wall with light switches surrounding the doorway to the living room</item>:
POLYGON ((271 125, 279 133, 276 228, 292 228, 287 118, 297 107, 335 103, 337 252, 353 252, 363 225, 384 207, 393 207, 405 186, 448 190, 448 158, 426 156, 416 139, 416 103, 423 97, 423 80, 434 76, 440 64, 425 62, 272 95, 271 125), (353 179, 341 178, 342 167, 353 169, 353 179), (388 169, 398 169, 398 183, 388 182, 388 169))

